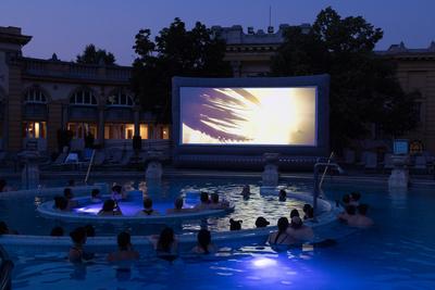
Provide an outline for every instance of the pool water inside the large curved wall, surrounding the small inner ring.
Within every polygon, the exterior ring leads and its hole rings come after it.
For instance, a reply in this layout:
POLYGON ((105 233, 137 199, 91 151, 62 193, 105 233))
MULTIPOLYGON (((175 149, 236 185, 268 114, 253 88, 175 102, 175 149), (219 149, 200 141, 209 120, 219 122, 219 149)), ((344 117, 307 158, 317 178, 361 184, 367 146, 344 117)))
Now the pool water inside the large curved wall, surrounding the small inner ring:
MULTIPOLYGON (((142 186, 140 181, 123 180, 122 184, 136 189, 142 186)), ((307 192, 307 190, 309 190, 309 186, 302 182, 291 186, 282 184, 281 186, 291 192, 307 192)), ((173 207, 174 200, 179 197, 181 193, 191 190, 219 192, 221 198, 236 203, 234 212, 225 214, 222 217, 207 219, 209 229, 213 231, 228 230, 229 218, 241 219, 243 228, 253 228, 256 218, 263 215, 268 217, 271 224, 275 225, 281 216, 288 216, 290 210, 301 210, 303 207, 303 202, 299 200, 287 199, 285 202, 279 202, 277 194, 260 193, 260 182, 258 180, 229 181, 225 179, 214 179, 213 181, 207 182, 201 179, 165 180, 162 185, 161 193, 158 194, 154 192, 150 198, 156 204, 161 205, 158 210, 164 212, 165 209, 173 207), (240 196, 245 182, 251 186, 251 196, 249 200, 244 200, 240 196)), ((72 191, 74 192, 74 188, 72 188, 72 191)), ((59 194, 62 194, 62 192, 59 192, 59 194)), ((65 229, 65 232, 69 232, 77 226, 84 226, 83 224, 66 223, 59 218, 41 216, 36 211, 36 207, 46 201, 52 201, 52 197, 37 196, 36 198, 0 200, 0 220, 4 220, 10 228, 23 235, 49 235, 50 230, 55 226, 61 226, 65 229)), ((132 212, 126 214, 134 215, 141 207, 141 202, 138 202, 137 209, 135 207, 132 212)), ((97 209, 94 210, 98 211, 97 209)), ((199 230, 203 224, 203 220, 188 220, 183 223, 179 228, 175 228, 175 230, 178 234, 189 234, 199 230)), ((139 225, 137 223, 125 222, 114 225, 94 224, 92 226, 96 227, 97 236, 113 236, 123 230, 128 230, 132 235, 153 235, 160 232, 164 227, 164 225, 139 225)))

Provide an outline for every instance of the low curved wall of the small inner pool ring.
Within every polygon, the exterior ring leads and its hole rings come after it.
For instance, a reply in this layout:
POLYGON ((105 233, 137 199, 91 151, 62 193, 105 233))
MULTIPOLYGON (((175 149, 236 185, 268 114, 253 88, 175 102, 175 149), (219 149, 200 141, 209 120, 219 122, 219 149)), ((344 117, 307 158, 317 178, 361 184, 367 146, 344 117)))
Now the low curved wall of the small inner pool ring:
MULTIPOLYGON (((76 201, 89 200, 88 198, 75 199, 76 201)), ((208 217, 222 216, 234 211, 234 205, 228 209, 200 211, 196 213, 183 214, 162 214, 162 215, 139 215, 139 216, 99 216, 94 214, 76 213, 76 212, 61 212, 53 209, 54 202, 47 201, 37 207, 37 211, 45 217, 60 219, 69 223, 80 224, 122 224, 122 223, 136 223, 136 224, 167 224, 177 225, 186 220, 198 220, 208 217)), ((122 205, 122 202, 121 202, 122 205)), ((121 206, 120 205, 120 206, 121 206)))

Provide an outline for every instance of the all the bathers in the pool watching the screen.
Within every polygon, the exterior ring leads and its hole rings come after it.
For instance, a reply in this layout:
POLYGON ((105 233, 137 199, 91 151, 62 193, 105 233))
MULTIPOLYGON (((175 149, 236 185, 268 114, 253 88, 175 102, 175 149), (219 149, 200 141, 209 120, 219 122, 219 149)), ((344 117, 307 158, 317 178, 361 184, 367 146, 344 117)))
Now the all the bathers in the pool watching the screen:
MULTIPOLYGON (((249 186, 244 186, 241 190, 241 197, 249 199, 251 196, 249 186)), ((126 192, 119 185, 112 187, 111 198, 103 200, 98 189, 92 189, 90 193, 90 202, 103 203, 102 209, 98 215, 112 216, 122 215, 122 211, 119 206, 119 202, 126 199, 126 192)), ((286 201, 287 192, 282 189, 278 193, 278 201, 286 201)), ((339 215, 338 219, 346 223, 349 226, 355 227, 369 227, 373 225, 373 220, 366 216, 369 205, 360 203, 361 194, 359 192, 351 192, 345 194, 341 200, 341 206, 345 209, 339 215)), ((166 210, 166 214, 178 214, 178 213, 191 213, 204 210, 215 209, 227 209, 229 203, 225 200, 220 199, 217 193, 201 192, 200 202, 191 209, 184 207, 184 199, 177 198, 174 201, 174 209, 166 210)), ((338 204, 339 202, 337 202, 338 204)), ((60 211, 71 211, 77 207, 78 201, 74 199, 73 190, 65 188, 63 196, 54 197, 54 207, 60 211)), ((314 238, 312 228, 304 224, 304 222, 314 219, 314 209, 310 204, 303 205, 303 214, 300 214, 298 210, 291 210, 289 217, 279 217, 277 220, 277 229, 270 232, 266 243, 270 245, 294 245, 303 244, 304 242, 311 242, 314 238)), ((138 215, 159 215, 160 213, 153 209, 152 200, 150 198, 144 199, 144 209, 137 213, 138 215)), ((256 220, 257 228, 268 227, 271 223, 263 216, 259 216, 256 220)), ((231 230, 240 230, 243 220, 229 219, 231 230)), ((0 222, 0 235, 17 234, 14 230, 8 228, 8 225, 0 222)), ((64 236, 64 229, 62 227, 52 228, 50 236, 61 237, 64 236)), ((75 228, 70 232, 72 239, 72 247, 69 251, 69 261, 72 263, 80 263, 84 261, 92 260, 94 253, 86 251, 86 241, 89 237, 95 237, 95 228, 91 225, 75 228)), ((178 239, 174 230, 171 227, 164 227, 160 235, 147 237, 150 243, 152 243, 156 254, 166 261, 174 261, 178 255, 178 239)), ((140 257, 138 251, 136 251, 132 243, 130 234, 128 231, 122 231, 116 238, 117 250, 107 255, 109 262, 120 261, 135 261, 140 257)), ((206 229, 201 228, 197 234, 197 243, 190 250, 191 253, 196 254, 209 254, 215 251, 215 247, 212 243, 212 235, 206 229)))

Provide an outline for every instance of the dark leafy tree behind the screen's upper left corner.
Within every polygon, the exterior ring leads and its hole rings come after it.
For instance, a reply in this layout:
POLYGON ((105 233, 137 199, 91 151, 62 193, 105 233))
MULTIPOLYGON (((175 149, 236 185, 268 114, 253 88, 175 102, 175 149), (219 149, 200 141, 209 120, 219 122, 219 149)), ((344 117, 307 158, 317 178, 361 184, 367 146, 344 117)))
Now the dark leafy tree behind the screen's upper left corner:
POLYGON ((133 90, 142 108, 161 121, 171 118, 173 76, 232 76, 229 63, 223 61, 225 42, 200 22, 188 30, 175 18, 153 41, 151 31, 141 29, 133 48, 138 55, 133 64, 133 90))

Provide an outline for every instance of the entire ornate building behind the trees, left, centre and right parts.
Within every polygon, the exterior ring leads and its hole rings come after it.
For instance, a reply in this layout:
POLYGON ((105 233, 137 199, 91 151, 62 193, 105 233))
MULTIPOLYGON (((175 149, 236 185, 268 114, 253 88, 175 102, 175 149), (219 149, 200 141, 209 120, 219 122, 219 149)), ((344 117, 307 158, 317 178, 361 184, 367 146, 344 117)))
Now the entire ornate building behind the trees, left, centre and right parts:
MULTIPOLYGON (((254 31, 241 26, 213 26, 226 41, 225 60, 235 77, 263 76, 270 60, 283 43, 287 25, 275 33, 254 31)), ((309 24, 301 25, 309 30, 309 24)), ((104 147, 130 147, 135 135, 142 142, 170 139, 170 126, 156 124, 142 112, 128 90, 132 67, 85 65, 25 58, 22 47, 32 40, 17 27, 0 27, 0 151, 21 151, 36 140, 40 151, 57 150, 58 131, 73 131, 73 149, 84 147, 91 133, 104 147)), ((406 91, 419 90, 419 127, 405 136, 435 152, 435 42, 425 49, 408 49, 403 43, 378 51, 397 63, 397 76, 406 91)))

